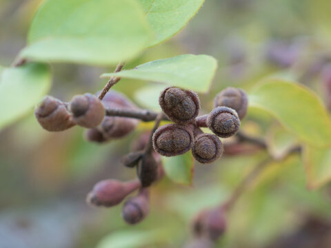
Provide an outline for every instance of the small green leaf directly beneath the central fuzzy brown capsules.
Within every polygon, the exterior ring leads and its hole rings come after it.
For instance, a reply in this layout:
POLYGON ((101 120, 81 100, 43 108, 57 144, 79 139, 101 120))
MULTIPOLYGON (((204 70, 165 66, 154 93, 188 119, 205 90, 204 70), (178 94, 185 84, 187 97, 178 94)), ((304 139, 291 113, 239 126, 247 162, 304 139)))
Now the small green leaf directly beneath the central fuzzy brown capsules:
POLYGON ((191 185, 194 163, 193 156, 187 152, 180 156, 165 157, 162 156, 165 174, 174 181, 183 185, 191 185))

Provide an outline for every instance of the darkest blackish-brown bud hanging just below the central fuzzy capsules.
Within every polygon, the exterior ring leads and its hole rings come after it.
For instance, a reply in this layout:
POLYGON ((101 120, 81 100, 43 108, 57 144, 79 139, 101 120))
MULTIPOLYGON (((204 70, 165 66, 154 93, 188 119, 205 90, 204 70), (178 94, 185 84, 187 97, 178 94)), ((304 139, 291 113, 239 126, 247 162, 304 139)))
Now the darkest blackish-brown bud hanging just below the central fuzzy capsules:
POLYGON ((149 187, 159 177, 157 161, 152 154, 147 153, 139 160, 137 166, 137 176, 141 181, 142 187, 149 187))

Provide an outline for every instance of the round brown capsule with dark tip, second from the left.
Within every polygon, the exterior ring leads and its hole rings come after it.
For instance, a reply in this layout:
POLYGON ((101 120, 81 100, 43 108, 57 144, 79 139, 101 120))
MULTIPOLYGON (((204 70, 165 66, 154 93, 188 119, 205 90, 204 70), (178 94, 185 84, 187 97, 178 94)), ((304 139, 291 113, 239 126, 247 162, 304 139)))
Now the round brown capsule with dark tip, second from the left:
POLYGON ((70 111, 74 122, 87 128, 97 127, 105 116, 103 104, 90 93, 74 96, 70 101, 70 111))

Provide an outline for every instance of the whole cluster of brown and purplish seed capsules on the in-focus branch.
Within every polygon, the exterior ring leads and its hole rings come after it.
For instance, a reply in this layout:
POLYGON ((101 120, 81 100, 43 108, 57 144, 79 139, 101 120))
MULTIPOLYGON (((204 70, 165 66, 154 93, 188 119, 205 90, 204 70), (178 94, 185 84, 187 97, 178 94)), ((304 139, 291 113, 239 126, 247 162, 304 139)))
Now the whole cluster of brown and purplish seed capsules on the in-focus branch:
MULTIPOLYGON (((248 99, 243 90, 228 87, 217 94, 210 114, 197 117, 200 110, 197 94, 167 87, 159 96, 159 104, 163 115, 174 124, 157 128, 152 136, 150 132, 143 134, 132 152, 123 157, 124 165, 136 167, 138 178, 128 182, 101 180, 88 194, 88 203, 112 207, 139 189, 123 205, 122 216, 129 224, 139 223, 148 215, 148 187, 163 176, 161 156, 177 156, 191 149, 197 161, 212 163, 223 153, 219 137, 228 138, 238 132, 248 99), (208 127, 214 134, 205 134, 200 127, 208 127)), ((69 103, 46 96, 34 114, 45 130, 59 132, 79 125, 87 128, 86 139, 97 143, 122 138, 139 124, 138 118, 107 116, 108 109, 139 110, 123 94, 110 91, 102 101, 89 93, 74 96, 69 103)))

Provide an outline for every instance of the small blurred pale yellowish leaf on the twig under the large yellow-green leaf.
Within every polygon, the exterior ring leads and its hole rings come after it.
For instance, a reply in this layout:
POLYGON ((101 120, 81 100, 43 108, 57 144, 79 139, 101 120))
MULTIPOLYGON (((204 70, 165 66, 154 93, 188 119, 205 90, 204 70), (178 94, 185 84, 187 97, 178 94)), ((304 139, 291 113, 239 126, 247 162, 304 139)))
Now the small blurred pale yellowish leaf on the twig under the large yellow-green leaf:
POLYGON ((280 125, 272 125, 268 131, 266 143, 270 155, 280 160, 297 145, 297 138, 280 125))

